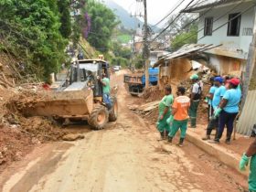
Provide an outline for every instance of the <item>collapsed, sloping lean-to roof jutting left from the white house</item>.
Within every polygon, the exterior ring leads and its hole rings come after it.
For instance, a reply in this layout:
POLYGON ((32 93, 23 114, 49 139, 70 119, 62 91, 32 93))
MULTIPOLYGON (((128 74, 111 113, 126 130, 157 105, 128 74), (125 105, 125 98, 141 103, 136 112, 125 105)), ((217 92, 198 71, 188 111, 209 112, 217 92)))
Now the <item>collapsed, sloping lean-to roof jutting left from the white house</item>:
POLYGON ((182 48, 179 48, 176 52, 173 52, 171 54, 165 55, 164 58, 159 59, 155 64, 154 68, 158 67, 159 65, 165 63, 165 60, 171 60, 171 59, 177 59, 182 57, 187 57, 192 54, 196 54, 198 52, 206 51, 210 48, 216 48, 219 46, 213 46, 212 44, 206 45, 206 44, 189 44, 185 45, 182 48))

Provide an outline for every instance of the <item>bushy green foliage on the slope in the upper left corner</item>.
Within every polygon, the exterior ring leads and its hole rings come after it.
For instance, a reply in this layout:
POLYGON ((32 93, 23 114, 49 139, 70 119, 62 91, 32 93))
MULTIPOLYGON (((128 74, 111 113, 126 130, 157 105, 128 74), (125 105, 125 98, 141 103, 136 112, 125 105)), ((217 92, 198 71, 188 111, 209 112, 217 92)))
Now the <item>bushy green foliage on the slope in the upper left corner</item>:
POLYGON ((68 41, 59 32, 56 0, 2 0, 0 18, 2 48, 24 60, 28 73, 43 78, 57 71, 68 41))

